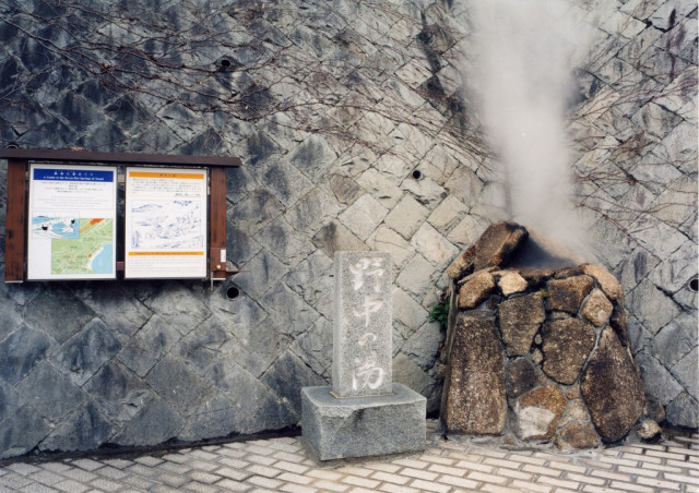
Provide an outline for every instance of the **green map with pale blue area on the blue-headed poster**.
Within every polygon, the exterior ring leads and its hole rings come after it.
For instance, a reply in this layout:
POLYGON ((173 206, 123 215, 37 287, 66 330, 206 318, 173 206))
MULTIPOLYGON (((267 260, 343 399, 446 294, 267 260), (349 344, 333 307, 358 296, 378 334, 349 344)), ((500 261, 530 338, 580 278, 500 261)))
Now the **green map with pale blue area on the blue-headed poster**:
POLYGON ((51 274, 110 274, 114 219, 80 219, 76 237, 51 240, 51 274))

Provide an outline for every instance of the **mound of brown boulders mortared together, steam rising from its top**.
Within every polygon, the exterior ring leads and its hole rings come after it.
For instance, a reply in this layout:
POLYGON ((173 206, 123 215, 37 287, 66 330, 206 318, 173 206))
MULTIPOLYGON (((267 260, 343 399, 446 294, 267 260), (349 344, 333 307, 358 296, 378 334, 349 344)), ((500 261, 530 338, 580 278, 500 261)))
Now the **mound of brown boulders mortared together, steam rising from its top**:
POLYGON ((560 448, 618 442, 632 430, 656 435, 654 423, 640 425, 644 387, 619 282, 543 244, 499 223, 449 267, 445 430, 560 448))

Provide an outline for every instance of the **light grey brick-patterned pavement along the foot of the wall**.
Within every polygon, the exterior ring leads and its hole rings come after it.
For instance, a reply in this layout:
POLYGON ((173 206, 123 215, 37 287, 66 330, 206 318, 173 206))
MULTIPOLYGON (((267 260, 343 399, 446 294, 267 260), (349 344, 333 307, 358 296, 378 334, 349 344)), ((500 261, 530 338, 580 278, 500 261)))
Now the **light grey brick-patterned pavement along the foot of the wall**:
POLYGON ((14 462, 0 492, 699 492, 699 434, 562 454, 445 441, 428 421, 422 454, 319 466, 299 437, 139 456, 14 462))

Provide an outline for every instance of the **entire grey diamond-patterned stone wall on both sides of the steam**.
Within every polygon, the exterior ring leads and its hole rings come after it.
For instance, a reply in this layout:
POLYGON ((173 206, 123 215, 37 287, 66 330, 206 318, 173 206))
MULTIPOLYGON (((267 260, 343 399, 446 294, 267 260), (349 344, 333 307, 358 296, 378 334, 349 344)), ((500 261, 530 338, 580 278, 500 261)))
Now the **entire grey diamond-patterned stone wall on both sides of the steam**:
MULTIPOLYGON (((330 380, 336 250, 392 254, 394 381, 436 410, 428 312, 453 257, 506 218, 458 70, 467 5, 142 3, 0 1, 1 145, 241 157, 227 250, 245 273, 214 290, 1 285, 0 458, 297 425, 300 387, 330 380)), ((690 3, 615 4, 572 130, 581 211, 627 290, 648 392, 696 426, 690 3)))

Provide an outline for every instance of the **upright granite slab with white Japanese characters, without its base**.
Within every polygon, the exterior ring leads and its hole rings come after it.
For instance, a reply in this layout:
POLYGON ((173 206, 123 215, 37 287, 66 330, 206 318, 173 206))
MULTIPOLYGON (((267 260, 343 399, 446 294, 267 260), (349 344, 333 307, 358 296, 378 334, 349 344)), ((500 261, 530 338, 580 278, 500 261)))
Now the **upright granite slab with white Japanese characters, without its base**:
POLYGON ((391 256, 335 252, 332 388, 339 397, 392 392, 391 256))

